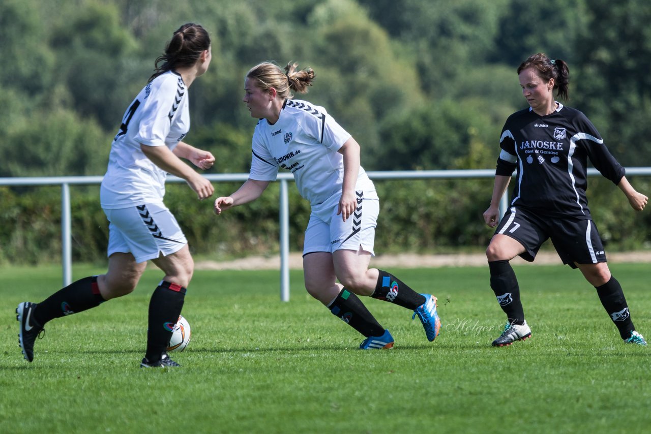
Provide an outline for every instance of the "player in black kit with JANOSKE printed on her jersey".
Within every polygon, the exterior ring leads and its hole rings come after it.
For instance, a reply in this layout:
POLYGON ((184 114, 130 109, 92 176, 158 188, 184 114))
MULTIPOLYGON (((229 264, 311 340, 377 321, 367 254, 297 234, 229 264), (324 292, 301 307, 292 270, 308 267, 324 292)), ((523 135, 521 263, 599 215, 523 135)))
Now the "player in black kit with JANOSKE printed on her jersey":
POLYGON ((509 261, 519 255, 532 262, 548 238, 563 264, 578 268, 596 288, 624 342, 646 345, 635 331, 622 286, 610 273, 602 239, 590 216, 585 195, 588 159, 622 190, 633 210, 642 211, 648 197, 631 187, 624 168, 590 120, 555 100, 555 91, 563 100, 568 98, 566 62, 538 53, 520 64, 518 76, 530 107, 506 120, 493 197, 484 212, 486 224, 497 226, 486 249, 490 286, 507 317, 505 330, 493 346, 531 336, 509 261), (499 202, 516 168, 514 198, 500 221, 499 202))

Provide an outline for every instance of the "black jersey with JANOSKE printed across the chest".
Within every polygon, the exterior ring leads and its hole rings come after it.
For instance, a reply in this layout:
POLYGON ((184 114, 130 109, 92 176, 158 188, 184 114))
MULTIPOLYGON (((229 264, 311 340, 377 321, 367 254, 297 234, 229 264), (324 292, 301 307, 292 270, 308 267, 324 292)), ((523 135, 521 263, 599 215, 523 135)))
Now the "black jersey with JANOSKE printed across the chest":
POLYGON ((615 184, 624 176, 592 122, 561 103, 551 115, 529 108, 509 116, 500 147, 495 173, 511 176, 518 168, 511 204, 550 217, 591 218, 585 196, 588 159, 615 184))

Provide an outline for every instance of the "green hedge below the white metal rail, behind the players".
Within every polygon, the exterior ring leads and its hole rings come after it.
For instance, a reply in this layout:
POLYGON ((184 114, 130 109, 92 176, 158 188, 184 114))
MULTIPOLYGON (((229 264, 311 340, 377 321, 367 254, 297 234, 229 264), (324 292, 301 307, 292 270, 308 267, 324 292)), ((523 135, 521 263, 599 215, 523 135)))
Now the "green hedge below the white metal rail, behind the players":
MULTIPOLYGON (((635 213, 608 180, 590 178, 590 210, 607 251, 651 247, 651 215, 635 213)), ((651 191, 648 177, 631 179, 651 191)), ((290 182, 292 184, 292 182, 290 182)), ((215 184, 217 196, 240 183, 215 184)), ((483 250, 493 230, 483 222, 492 180, 380 180, 376 252, 483 250)), ((310 215, 307 200, 288 185, 290 250, 301 251, 310 215)), ((99 187, 70 188, 72 256, 75 262, 104 263, 108 222, 100 208, 99 187)), ((279 251, 279 183, 255 202, 220 216, 213 200, 197 200, 185 183, 168 183, 165 204, 183 228, 193 254, 214 260, 279 251)), ((0 187, 0 264, 61 261, 61 187, 0 187)))

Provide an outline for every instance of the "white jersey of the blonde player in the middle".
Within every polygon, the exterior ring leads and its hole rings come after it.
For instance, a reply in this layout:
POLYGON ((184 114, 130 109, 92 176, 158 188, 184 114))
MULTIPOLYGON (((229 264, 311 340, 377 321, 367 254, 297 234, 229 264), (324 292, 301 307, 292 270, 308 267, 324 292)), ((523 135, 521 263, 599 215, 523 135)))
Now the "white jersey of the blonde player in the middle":
MULTIPOLYGON (((253 133, 253 157, 249 178, 275 181, 278 168, 291 170, 301 196, 313 212, 330 208, 329 198, 339 197, 344 179, 344 159, 337 152, 351 135, 326 109, 307 101, 286 100, 278 121, 261 119, 253 133)), ((367 173, 359 167, 355 190, 366 198, 378 198, 367 173)))

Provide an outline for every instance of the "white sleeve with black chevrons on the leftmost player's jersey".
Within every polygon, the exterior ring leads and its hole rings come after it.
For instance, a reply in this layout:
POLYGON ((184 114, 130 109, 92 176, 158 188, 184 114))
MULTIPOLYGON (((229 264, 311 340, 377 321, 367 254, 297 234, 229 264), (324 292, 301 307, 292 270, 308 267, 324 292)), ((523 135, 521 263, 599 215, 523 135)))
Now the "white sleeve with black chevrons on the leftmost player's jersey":
POLYGON ((165 146, 171 120, 169 114, 175 103, 177 79, 162 77, 160 83, 152 85, 151 92, 141 103, 138 132, 135 141, 146 146, 165 146))

